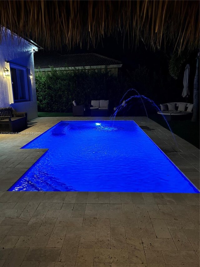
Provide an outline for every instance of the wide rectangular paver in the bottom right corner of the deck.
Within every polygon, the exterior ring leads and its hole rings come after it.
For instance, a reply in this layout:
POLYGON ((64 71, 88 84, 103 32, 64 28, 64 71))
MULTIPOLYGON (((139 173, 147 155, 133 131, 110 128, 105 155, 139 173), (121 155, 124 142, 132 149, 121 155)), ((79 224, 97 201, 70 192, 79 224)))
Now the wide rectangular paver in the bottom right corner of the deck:
POLYGON ((163 257, 167 264, 198 264, 199 258, 194 251, 163 250, 163 257))

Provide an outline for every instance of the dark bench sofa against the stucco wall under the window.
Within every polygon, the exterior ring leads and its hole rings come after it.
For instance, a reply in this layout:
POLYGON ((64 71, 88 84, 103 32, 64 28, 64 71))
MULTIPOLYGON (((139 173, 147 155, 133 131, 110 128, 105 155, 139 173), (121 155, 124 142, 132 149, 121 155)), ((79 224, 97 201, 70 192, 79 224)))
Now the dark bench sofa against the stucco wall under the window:
POLYGON ((12 108, 0 109, 0 133, 17 133, 27 127, 27 112, 13 112, 12 108))

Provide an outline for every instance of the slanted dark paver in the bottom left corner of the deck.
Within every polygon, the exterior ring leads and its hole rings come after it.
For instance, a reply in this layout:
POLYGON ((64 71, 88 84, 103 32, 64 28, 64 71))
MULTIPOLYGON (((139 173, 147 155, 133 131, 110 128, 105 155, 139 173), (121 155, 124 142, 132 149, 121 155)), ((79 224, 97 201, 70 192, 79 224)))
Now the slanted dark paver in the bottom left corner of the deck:
POLYGON ((4 267, 11 267, 11 266, 20 267, 27 251, 28 251, 27 248, 12 249, 11 253, 9 254, 3 266, 4 267))

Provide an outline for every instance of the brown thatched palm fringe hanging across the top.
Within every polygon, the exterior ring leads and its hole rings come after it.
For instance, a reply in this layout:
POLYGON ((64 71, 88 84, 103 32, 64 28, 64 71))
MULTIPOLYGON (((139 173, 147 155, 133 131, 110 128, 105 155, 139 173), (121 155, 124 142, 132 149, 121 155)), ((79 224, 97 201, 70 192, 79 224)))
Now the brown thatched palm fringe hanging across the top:
POLYGON ((1 1, 0 24, 47 49, 97 44, 104 35, 153 49, 199 47, 199 1, 1 1))

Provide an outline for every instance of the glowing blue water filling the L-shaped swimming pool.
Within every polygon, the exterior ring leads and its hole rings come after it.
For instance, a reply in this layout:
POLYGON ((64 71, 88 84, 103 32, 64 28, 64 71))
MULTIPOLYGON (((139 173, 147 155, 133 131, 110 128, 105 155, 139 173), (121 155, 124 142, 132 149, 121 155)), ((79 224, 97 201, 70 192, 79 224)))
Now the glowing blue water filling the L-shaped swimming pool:
POLYGON ((48 151, 10 191, 199 193, 134 121, 61 121, 22 148, 48 151))

